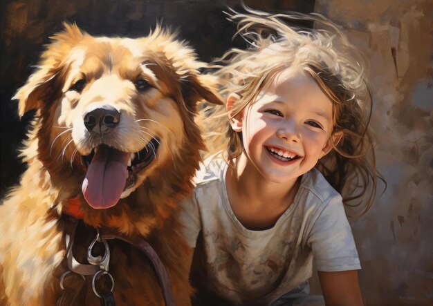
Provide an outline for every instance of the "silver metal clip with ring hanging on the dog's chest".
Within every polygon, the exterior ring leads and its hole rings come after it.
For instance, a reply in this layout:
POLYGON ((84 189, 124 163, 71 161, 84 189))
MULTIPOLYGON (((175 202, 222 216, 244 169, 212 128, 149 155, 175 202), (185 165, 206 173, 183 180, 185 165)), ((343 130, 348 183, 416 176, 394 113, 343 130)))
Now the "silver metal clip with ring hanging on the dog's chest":
POLYGON ((89 261, 89 263, 91 265, 95 265, 95 266, 100 267, 100 271, 96 272, 95 275, 93 275, 93 279, 92 279, 92 287, 93 287, 93 292, 95 292, 95 295, 98 296, 98 298, 102 298, 101 294, 98 293, 98 291, 96 290, 95 282, 96 282, 96 280, 98 280, 98 278, 100 278, 101 276, 104 276, 104 275, 109 276, 109 278, 111 280, 111 289, 110 289, 109 294, 113 294, 114 279, 113 279, 113 276, 111 276, 111 274, 108 271, 109 270, 109 263, 110 263, 110 248, 109 248, 109 245, 107 243, 107 240, 100 238, 100 232, 99 232, 98 228, 96 229, 95 239, 93 239, 93 241, 89 245, 89 249, 87 249, 87 260, 89 261), (92 255, 93 247, 95 247, 96 242, 100 242, 104 245, 105 251, 104 251, 103 256, 93 256, 92 255))

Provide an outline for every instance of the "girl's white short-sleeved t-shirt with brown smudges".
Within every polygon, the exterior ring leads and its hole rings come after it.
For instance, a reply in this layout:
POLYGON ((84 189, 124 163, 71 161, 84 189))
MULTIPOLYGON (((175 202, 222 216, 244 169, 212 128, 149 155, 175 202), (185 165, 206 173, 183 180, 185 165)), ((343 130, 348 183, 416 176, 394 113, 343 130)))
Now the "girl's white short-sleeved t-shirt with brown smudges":
POLYGON ((270 304, 319 271, 360 269, 341 195, 312 169, 295 200, 271 229, 243 227, 228 202, 223 160, 205 162, 183 203, 183 235, 196 247, 202 231, 206 287, 232 303, 270 304))

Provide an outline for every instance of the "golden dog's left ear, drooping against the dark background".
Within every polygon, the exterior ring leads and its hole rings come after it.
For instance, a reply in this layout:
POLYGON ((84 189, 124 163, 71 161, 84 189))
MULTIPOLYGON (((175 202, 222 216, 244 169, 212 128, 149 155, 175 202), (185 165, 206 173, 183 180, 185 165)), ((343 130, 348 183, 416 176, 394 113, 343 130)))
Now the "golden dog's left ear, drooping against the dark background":
POLYGON ((19 116, 34 108, 41 108, 42 104, 52 101, 59 94, 62 85, 56 84, 59 77, 63 77, 67 53, 84 37, 84 33, 75 24, 64 23, 64 31, 51 37, 52 42, 42 53, 39 65, 30 75, 26 84, 19 88, 12 99, 19 100, 19 116))

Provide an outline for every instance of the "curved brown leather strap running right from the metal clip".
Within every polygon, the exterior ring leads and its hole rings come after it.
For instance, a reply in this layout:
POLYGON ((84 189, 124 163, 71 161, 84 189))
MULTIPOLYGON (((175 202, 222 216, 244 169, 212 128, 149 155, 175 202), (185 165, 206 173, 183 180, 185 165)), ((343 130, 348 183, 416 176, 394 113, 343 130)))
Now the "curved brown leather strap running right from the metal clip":
POLYGON ((125 241, 129 243, 130 245, 133 245, 134 247, 137 247, 144 253, 147 258, 151 261, 152 265, 154 265, 154 269, 156 271, 156 275, 158 276, 160 287, 163 291, 165 306, 175 306, 174 303, 174 295, 172 291, 172 283, 170 281, 170 278, 168 276, 167 270, 165 269, 165 266, 163 262, 160 260, 158 254, 156 254, 156 251, 154 250, 151 245, 149 245, 149 242, 144 240, 140 237, 124 237, 124 236, 118 236, 117 233, 113 233, 111 229, 108 228, 101 228, 100 229, 100 236, 104 239, 112 239, 116 238, 122 241, 125 241))

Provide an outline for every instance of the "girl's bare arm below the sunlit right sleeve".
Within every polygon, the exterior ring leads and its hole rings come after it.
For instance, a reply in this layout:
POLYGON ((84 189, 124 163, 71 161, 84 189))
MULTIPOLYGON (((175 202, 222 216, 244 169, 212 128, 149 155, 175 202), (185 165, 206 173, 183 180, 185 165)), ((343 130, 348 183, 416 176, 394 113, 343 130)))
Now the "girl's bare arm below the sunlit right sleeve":
POLYGON ((358 270, 324 272, 319 271, 326 306, 362 306, 358 284, 358 270))

